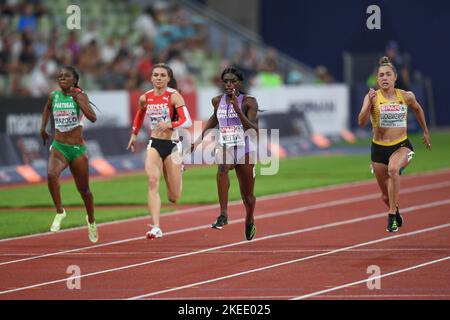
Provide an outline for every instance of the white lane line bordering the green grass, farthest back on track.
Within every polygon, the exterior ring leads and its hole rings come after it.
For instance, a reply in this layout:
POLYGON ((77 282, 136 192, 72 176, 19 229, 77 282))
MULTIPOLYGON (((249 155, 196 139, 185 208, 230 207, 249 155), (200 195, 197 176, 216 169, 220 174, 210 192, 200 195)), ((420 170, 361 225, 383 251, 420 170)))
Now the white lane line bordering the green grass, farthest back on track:
MULTIPOLYGON (((409 180, 414 180, 414 179, 420 179, 422 177, 430 177, 430 176, 436 176, 436 175, 447 174, 447 173, 450 173, 449 169, 440 169, 440 170, 430 171, 430 172, 421 173, 421 174, 410 174, 408 176, 403 177, 403 181, 405 181, 405 180, 409 181, 409 180)), ((284 193, 277 193, 277 194, 273 194, 273 195, 257 197, 257 202, 281 199, 281 198, 293 197, 293 196, 308 195, 308 194, 332 191, 332 190, 337 190, 337 189, 342 189, 342 188, 361 187, 361 186, 371 185, 371 184, 375 185, 375 182, 373 181, 373 179, 365 180, 365 181, 337 184, 337 185, 332 185, 332 186, 317 187, 317 188, 311 188, 311 189, 300 190, 300 191, 289 191, 289 192, 284 192, 284 193)), ((432 185, 432 184, 430 184, 430 185, 432 185)), ((230 201, 228 203, 228 205, 229 206, 242 205, 242 200, 230 201)), ((216 209, 216 208, 219 208, 219 204, 203 205, 203 206, 199 206, 199 207, 193 207, 193 208, 188 208, 188 209, 177 210, 175 212, 165 213, 162 215, 162 217, 168 217, 168 216, 173 216, 173 215, 182 215, 182 214, 186 214, 186 213, 198 212, 198 211, 210 210, 210 209, 216 209)), ((119 224, 119 223, 127 223, 127 222, 140 221, 140 220, 146 220, 146 219, 149 219, 149 217, 143 216, 143 217, 123 219, 123 220, 118 220, 118 221, 104 222, 104 223, 99 223, 98 226, 115 225, 115 224, 119 224)), ((59 231, 59 233, 73 232, 73 231, 78 231, 78 230, 82 230, 82 229, 85 229, 85 227, 75 227, 75 228, 70 228, 70 229, 64 229, 64 230, 59 231)), ((48 236, 48 235, 52 235, 52 234, 53 234, 52 232, 44 232, 44 233, 31 234, 31 235, 26 235, 26 236, 18 236, 18 237, 13 237, 13 238, 0 239, 0 243, 6 242, 6 241, 12 241, 12 240, 21 240, 21 239, 48 236)))

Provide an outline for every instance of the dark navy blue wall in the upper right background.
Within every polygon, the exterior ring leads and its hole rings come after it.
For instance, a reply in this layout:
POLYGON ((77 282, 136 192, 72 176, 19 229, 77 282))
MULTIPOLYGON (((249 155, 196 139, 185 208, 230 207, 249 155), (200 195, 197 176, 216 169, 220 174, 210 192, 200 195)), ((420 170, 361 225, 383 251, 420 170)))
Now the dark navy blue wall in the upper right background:
POLYGON ((261 1, 264 41, 312 67, 325 65, 338 81, 343 52, 382 54, 397 41, 412 68, 432 79, 437 125, 450 125, 449 1, 261 1), (381 9, 381 30, 366 27, 369 5, 381 9))

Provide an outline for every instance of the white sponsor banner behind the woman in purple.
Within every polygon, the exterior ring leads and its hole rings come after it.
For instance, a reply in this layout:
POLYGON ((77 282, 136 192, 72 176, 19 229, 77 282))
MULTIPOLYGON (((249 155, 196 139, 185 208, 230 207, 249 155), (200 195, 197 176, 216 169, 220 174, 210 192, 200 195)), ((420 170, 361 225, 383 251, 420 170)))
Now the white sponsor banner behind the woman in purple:
MULTIPOLYGON (((340 134, 349 129, 349 91, 344 84, 283 86, 276 89, 251 89, 260 115, 271 113, 304 114, 313 133, 340 134)), ((199 92, 199 118, 208 119, 213 113, 211 99, 220 94, 216 88, 204 88, 199 92)))

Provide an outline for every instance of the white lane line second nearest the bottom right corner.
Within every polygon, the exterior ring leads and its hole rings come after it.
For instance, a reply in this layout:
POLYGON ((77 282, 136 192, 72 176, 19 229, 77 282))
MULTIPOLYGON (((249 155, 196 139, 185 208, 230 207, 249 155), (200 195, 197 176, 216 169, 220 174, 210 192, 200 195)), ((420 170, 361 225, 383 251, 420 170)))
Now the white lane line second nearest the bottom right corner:
MULTIPOLYGON (((285 261, 285 262, 282 262, 282 263, 268 265, 268 266, 261 267, 261 268, 250 269, 250 270, 243 271, 243 272, 233 273, 233 274, 230 274, 230 275, 227 275, 227 276, 223 276, 223 277, 218 277, 218 278, 214 278, 214 279, 204 280, 204 281, 200 281, 200 282, 196 282, 196 283, 190 283, 190 284, 187 284, 187 285, 184 285, 184 286, 180 286, 180 287, 175 287, 175 288, 171 288, 171 289, 150 292, 150 293, 147 293, 147 294, 143 294, 143 295, 139 295, 139 296, 128 298, 128 300, 144 299, 144 298, 148 298, 148 297, 152 297, 152 296, 156 296, 156 295, 161 295, 161 294, 165 294, 165 293, 169 293, 169 292, 174 292, 174 291, 179 291, 179 290, 188 289, 188 288, 192 288, 192 287, 197 287, 197 286, 201 286, 201 285, 204 285, 204 284, 209 284, 209 283, 212 283, 212 282, 217 282, 217 281, 222 281, 222 280, 226 280, 226 279, 239 277, 239 276, 242 276, 242 275, 247 275, 247 274, 250 274, 250 273, 256 273, 256 272, 259 272, 259 271, 265 271, 265 270, 268 270, 268 269, 278 268, 278 267, 286 266, 286 265, 289 265, 289 264, 294 264, 294 263, 298 263, 298 262, 302 262, 302 261, 306 261, 306 260, 320 258, 320 257, 323 257, 323 256, 327 256, 327 255, 331 255, 331 254, 335 254, 335 253, 339 253, 339 252, 348 251, 350 249, 354 249, 354 248, 358 248, 358 247, 362 247, 362 246, 368 246, 368 245, 375 244, 375 243, 380 243, 380 242, 389 241, 389 240, 393 240, 393 239, 399 239, 399 238, 403 238, 403 237, 413 236, 413 235, 417 235, 417 234, 421 234, 421 233, 425 233, 425 232, 430 232, 430 231, 434 231, 434 230, 440 230, 440 229, 448 228, 448 227, 450 227, 450 223, 447 223, 447 224, 444 224, 444 225, 440 225, 440 226, 437 226, 437 227, 420 229, 420 230, 416 230, 416 231, 413 231, 413 232, 408 232, 408 233, 404 233, 404 234, 400 234, 400 235, 385 237, 385 238, 381 238, 381 239, 377 239, 377 240, 373 240, 373 241, 363 242, 363 243, 359 243, 359 244, 356 244, 356 245, 353 245, 353 246, 344 247, 344 248, 340 248, 340 249, 337 249, 337 250, 332 250, 332 251, 328 251, 328 252, 325 252, 325 253, 316 254, 316 255, 313 255, 313 256, 307 256, 307 257, 303 257, 303 258, 299 258, 299 259, 295 259, 295 260, 289 260, 289 261, 285 261)), ((373 279, 375 279, 375 277, 371 278, 371 280, 373 280, 373 279)), ((365 281, 367 281, 367 279, 365 279, 365 281)))

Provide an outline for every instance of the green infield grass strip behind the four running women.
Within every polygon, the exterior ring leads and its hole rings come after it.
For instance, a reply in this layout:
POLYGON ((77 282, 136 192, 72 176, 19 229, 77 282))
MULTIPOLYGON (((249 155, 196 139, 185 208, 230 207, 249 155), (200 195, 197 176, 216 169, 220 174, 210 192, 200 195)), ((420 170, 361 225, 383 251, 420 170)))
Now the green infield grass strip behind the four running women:
MULTIPOLYGON (((416 155, 405 171, 417 174, 443 168, 450 168, 450 132, 438 131, 432 134, 433 150, 427 151, 421 135, 411 135, 416 155)), ((369 170, 370 140, 358 141, 354 145, 340 144, 348 154, 308 155, 282 159, 275 175, 261 175, 261 166, 256 170, 256 196, 276 194, 320 186, 374 179, 369 170), (367 150, 352 154, 352 149, 367 150)), ((183 174, 183 193, 180 204, 217 203, 216 166, 190 167, 183 174)), ((234 171, 230 172, 229 200, 240 199, 239 187, 234 171)), ((146 205, 147 178, 144 172, 109 179, 91 179, 96 212, 99 222, 126 219, 148 214, 144 209, 104 210, 101 206, 146 205), (108 211, 108 212, 107 212, 108 211), (102 220, 100 220, 102 217, 102 220), (104 219, 103 219, 104 218, 104 219)), ((82 206, 83 202, 71 179, 61 182, 61 194, 65 206, 82 206)), ((167 204, 166 185, 161 180, 160 194, 163 204, 167 204)), ((0 189, 0 238, 12 235, 47 231, 53 218, 50 194, 46 184, 26 185, 0 189), (24 212, 23 208, 42 208, 42 211, 24 212), (15 210, 16 209, 16 210, 15 210), (17 209, 20 209, 18 211, 17 209), (44 223, 45 222, 45 223, 44 223), (20 227, 26 224, 26 227, 20 227), (15 231, 17 230, 17 231, 15 231), (20 231, 19 231, 20 230, 20 231)), ((74 220, 65 227, 84 224, 84 214, 74 213, 74 220)), ((66 220, 65 220, 66 221, 66 220)))

